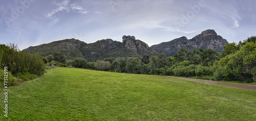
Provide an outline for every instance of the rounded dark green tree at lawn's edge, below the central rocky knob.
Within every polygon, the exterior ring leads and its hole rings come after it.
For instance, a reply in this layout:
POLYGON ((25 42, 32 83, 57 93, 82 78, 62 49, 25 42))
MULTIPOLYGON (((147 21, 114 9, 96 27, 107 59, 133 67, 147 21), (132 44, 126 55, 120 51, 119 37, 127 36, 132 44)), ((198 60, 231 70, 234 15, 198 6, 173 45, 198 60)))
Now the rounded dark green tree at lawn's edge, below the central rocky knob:
POLYGON ((140 74, 142 67, 141 59, 138 57, 129 57, 126 62, 126 71, 128 73, 140 74))

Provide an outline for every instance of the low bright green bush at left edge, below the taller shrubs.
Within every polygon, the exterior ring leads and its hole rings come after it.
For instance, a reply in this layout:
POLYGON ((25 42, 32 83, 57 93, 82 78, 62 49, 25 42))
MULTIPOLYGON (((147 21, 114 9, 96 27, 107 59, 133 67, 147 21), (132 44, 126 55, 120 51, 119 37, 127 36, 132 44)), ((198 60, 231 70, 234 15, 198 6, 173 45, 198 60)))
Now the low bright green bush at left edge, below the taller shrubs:
MULTIPOLYGON (((1 87, 4 86, 4 81, 5 81, 5 78, 4 78, 4 70, 0 70, 0 83, 1 83, 1 87)), ((6 84, 8 84, 8 86, 12 86, 12 85, 18 85, 18 79, 13 77, 11 72, 8 72, 8 80, 6 84)))

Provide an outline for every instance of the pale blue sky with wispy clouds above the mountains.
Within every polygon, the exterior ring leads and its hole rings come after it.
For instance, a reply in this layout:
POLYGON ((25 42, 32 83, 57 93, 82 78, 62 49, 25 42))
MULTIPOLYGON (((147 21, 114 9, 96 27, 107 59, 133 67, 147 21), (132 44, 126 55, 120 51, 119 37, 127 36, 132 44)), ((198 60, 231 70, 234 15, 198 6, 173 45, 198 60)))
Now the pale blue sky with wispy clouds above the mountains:
POLYGON ((0 0, 0 43, 30 46, 135 36, 149 46, 206 29, 229 43, 256 35, 255 0, 0 0))

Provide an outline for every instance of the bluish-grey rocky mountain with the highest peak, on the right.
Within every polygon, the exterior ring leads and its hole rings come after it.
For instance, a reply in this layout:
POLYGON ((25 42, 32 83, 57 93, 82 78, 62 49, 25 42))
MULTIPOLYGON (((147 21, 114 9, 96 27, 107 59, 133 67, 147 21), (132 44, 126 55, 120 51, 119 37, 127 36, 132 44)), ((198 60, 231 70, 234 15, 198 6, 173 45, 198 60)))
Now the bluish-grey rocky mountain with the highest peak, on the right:
POLYGON ((189 50, 211 48, 222 53, 223 46, 226 44, 228 44, 227 40, 218 36, 214 30, 208 29, 192 39, 188 40, 186 37, 181 37, 169 42, 153 45, 151 48, 159 53, 165 53, 167 56, 173 56, 181 47, 189 50))

